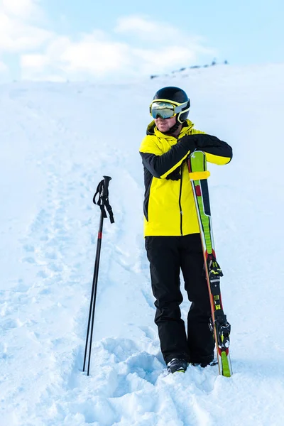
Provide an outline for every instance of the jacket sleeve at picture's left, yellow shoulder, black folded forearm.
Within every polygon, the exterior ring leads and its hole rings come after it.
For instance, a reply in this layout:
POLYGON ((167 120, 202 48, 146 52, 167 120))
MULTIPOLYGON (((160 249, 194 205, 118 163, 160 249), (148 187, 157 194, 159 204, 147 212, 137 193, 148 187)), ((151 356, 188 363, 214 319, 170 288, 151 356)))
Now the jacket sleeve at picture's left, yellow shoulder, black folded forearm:
POLYGON ((172 146, 170 151, 162 153, 155 143, 154 137, 146 136, 140 147, 142 163, 155 178, 164 179, 187 158, 191 145, 189 141, 181 140, 172 146))

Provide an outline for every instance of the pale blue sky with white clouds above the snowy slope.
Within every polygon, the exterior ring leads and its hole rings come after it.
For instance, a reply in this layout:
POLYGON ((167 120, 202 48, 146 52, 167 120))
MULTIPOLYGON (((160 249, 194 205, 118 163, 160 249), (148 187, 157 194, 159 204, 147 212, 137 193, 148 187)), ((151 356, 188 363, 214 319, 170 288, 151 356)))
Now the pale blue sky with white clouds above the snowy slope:
POLYGON ((0 81, 284 62, 280 0, 0 0, 0 81))

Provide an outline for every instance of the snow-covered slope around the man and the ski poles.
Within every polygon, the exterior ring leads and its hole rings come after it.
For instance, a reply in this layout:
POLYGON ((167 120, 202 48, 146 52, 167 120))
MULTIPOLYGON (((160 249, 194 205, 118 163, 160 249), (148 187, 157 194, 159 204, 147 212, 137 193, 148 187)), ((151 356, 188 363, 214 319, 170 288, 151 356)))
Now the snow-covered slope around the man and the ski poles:
MULTIPOLYGON (((284 65, 220 66, 126 84, 0 86, 0 425, 283 425, 284 65), (209 165, 234 375, 168 375, 153 323, 138 148, 156 89, 191 97, 228 141, 209 165), (82 373, 99 208, 110 175, 90 376, 82 373)), ((185 317, 189 307, 182 304, 185 317)))

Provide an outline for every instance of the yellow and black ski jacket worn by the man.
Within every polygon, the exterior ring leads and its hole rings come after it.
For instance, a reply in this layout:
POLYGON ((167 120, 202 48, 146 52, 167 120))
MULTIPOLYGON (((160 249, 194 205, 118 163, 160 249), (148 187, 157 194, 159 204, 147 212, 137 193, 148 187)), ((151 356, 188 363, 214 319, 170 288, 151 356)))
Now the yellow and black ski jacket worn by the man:
MULTIPOLYGON (((201 139, 209 163, 224 165, 232 158, 231 147, 216 136, 193 128, 185 121, 178 138, 158 131, 155 121, 147 128, 140 154, 144 166, 144 236, 181 236, 200 232, 186 158, 186 135, 201 139), (180 140, 181 139, 181 140, 180 140)), ((188 138, 187 138, 188 139, 188 138)), ((192 139, 192 138, 190 138, 192 139)))

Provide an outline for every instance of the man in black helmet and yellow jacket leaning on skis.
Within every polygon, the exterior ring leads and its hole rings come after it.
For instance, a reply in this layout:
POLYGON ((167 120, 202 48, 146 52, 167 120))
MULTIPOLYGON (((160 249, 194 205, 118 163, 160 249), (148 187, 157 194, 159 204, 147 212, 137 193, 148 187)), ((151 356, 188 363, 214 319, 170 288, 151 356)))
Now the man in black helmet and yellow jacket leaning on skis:
POLYGON ((209 330, 209 293, 187 156, 199 149, 207 161, 229 163, 231 147, 194 129, 187 119, 190 99, 178 87, 163 87, 153 97, 140 153, 144 166, 144 234, 155 297, 155 324, 168 371, 187 364, 207 366, 214 359, 209 330), (185 323, 180 316, 180 270, 192 302, 185 323))

